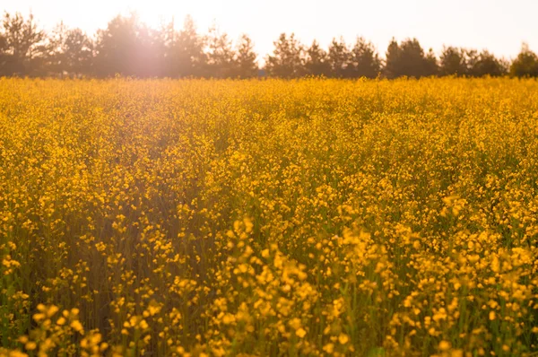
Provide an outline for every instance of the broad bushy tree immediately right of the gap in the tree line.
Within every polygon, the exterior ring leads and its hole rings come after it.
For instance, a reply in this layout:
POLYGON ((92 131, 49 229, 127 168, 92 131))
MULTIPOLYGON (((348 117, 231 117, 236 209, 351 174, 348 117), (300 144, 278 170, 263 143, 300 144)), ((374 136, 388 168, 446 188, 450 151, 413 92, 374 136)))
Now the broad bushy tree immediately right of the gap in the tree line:
POLYGON ((281 78, 295 78, 304 74, 304 50, 293 33, 290 37, 282 33, 273 44, 273 55, 267 56, 265 60, 268 74, 281 78))

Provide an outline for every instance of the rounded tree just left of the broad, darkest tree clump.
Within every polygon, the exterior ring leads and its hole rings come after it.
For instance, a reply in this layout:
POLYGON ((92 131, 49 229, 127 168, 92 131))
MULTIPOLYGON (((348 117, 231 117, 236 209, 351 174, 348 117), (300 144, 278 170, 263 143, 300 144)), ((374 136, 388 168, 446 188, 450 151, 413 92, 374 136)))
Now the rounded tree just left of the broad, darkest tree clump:
POLYGON ((381 71, 381 60, 374 45, 362 37, 357 38, 351 49, 349 66, 353 77, 376 78, 381 71))

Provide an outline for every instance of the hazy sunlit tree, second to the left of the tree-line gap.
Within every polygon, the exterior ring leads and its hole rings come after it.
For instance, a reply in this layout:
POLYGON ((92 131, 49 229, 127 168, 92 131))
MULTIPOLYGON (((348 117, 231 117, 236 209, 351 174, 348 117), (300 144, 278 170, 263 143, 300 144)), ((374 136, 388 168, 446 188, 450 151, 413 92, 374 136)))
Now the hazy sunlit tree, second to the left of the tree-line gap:
POLYGON ((226 33, 219 33, 213 26, 207 39, 207 74, 216 78, 229 78, 235 67, 235 51, 226 33))

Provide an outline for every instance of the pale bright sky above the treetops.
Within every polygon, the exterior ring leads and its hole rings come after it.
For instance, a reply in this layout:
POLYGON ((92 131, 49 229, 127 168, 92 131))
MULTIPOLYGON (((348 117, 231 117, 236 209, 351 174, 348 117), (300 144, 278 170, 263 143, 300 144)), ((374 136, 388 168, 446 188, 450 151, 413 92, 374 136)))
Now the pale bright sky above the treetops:
POLYGON ((306 45, 317 39, 325 48, 334 37, 351 44, 363 36, 381 57, 393 37, 416 37, 437 54, 452 45, 509 59, 522 42, 538 52, 538 0, 0 0, 0 10, 31 11, 45 30, 63 21, 88 34, 117 14, 134 11, 155 28, 173 18, 178 30, 190 14, 199 32, 214 24, 231 39, 247 33, 261 58, 282 32, 294 32, 306 45))

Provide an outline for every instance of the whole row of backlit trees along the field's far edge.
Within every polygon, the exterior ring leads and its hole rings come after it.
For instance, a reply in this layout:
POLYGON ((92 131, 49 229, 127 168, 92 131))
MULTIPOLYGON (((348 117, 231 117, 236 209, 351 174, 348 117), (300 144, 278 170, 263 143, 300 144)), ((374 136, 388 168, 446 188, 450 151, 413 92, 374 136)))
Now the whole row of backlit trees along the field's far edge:
POLYGON ((392 39, 382 59, 371 42, 348 44, 333 39, 325 50, 314 40, 305 46, 292 33, 273 42, 273 53, 259 68, 254 44, 242 35, 234 44, 216 27, 202 35, 187 16, 183 28, 174 22, 155 30, 135 14, 117 15, 107 28, 88 36, 59 23, 49 33, 34 17, 4 13, 0 25, 0 76, 99 77, 117 74, 147 77, 249 78, 269 75, 297 78, 396 78, 401 76, 538 77, 538 57, 525 44, 511 62, 487 50, 444 47, 439 57, 418 39, 392 39))

